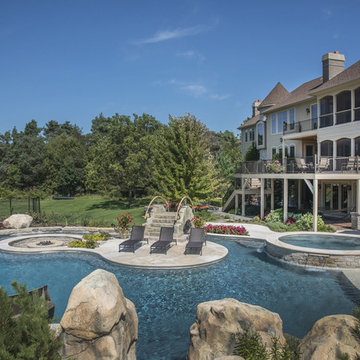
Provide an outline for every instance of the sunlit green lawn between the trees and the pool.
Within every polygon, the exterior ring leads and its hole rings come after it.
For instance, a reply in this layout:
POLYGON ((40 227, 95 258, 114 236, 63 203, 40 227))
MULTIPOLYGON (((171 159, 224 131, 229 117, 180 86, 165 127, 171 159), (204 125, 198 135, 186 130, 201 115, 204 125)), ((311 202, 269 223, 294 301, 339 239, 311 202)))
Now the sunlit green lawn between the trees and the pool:
POLYGON ((113 200, 101 196, 82 196, 74 200, 41 200, 41 212, 52 218, 63 218, 68 225, 107 226, 124 212, 133 215, 136 225, 145 222, 144 206, 150 198, 136 199, 131 208, 127 200, 113 200), (59 215, 59 216, 56 216, 59 215))

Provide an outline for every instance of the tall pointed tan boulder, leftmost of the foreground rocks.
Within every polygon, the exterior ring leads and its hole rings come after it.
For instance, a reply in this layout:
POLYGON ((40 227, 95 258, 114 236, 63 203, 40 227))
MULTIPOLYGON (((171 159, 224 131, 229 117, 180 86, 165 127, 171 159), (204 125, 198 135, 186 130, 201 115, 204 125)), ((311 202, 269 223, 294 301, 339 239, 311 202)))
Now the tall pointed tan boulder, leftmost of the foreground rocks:
POLYGON ((136 309, 112 273, 98 269, 81 280, 70 294, 60 325, 65 359, 136 359, 136 309))

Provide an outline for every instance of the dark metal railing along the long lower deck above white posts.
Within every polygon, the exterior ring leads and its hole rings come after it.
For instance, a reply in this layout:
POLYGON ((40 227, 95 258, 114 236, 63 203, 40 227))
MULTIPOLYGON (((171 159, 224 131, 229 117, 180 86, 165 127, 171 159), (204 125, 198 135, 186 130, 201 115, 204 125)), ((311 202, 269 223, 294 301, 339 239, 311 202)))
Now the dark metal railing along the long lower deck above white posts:
POLYGON ((284 161, 244 161, 236 169, 241 174, 359 173, 360 159, 358 156, 336 158, 306 156, 285 158, 284 161))

